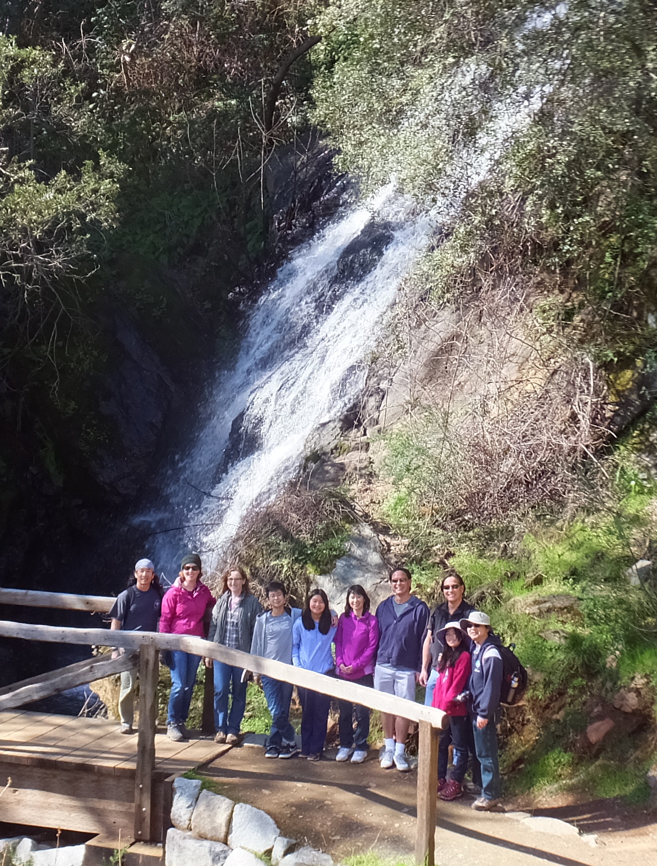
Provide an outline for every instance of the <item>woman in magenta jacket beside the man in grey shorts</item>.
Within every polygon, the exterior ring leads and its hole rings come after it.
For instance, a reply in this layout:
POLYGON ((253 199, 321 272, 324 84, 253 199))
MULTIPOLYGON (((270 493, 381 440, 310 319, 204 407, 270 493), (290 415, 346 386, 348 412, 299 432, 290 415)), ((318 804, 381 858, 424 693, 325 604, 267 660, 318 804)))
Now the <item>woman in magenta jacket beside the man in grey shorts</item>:
MULTIPOLYGON (((335 675, 372 688, 378 646, 379 623, 369 612, 368 593, 359 584, 350 586, 335 632, 335 675)), ((338 708, 340 749, 335 760, 343 761, 351 756, 352 764, 362 764, 368 757, 369 708, 351 701, 338 701, 338 708)))

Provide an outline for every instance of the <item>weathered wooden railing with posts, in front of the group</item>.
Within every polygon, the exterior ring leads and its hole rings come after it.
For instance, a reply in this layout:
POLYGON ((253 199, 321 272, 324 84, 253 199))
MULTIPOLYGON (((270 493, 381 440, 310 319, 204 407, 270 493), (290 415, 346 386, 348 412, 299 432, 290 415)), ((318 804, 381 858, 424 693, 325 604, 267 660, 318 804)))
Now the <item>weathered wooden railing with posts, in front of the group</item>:
MULTIPOLYGON (((99 596, 68 596, 65 593, 33 592, 26 590, 0 589, 0 604, 27 604, 37 607, 56 607, 75 611, 107 612, 114 598, 99 596)), ((82 645, 111 644, 125 650, 139 650, 140 666, 140 721, 137 742, 137 769, 135 774, 135 838, 146 841, 151 837, 151 777, 155 761, 155 727, 157 722, 158 651, 183 650, 195 656, 205 656, 233 667, 252 671, 254 674, 270 676, 272 679, 289 682, 301 688, 322 692, 343 701, 351 701, 381 713, 398 715, 415 721, 420 727, 420 750, 418 763, 417 831, 415 858, 417 863, 433 866, 434 834, 436 828, 438 743, 439 734, 449 723, 449 717, 439 709, 425 707, 395 695, 387 695, 374 688, 359 686, 348 680, 336 679, 313 671, 296 668, 283 662, 275 662, 262 656, 252 656, 240 650, 231 650, 219 643, 205 641, 200 637, 160 634, 151 631, 120 631, 107 629, 61 628, 51 625, 35 625, 0 621, 0 637, 16 637, 47 643, 75 643, 82 645)), ((119 660, 116 660, 119 661, 119 660)), ((107 663, 107 662, 106 662, 107 663)), ((134 666, 134 663, 133 663, 134 666)), ((75 666, 70 666, 75 667, 75 666)), ((64 671, 51 672, 65 675, 64 671)), ((93 679, 98 676, 94 674, 93 679)), ((3 696, 12 690, 29 688, 39 680, 16 683, 0 693, 0 709, 3 696)), ((87 682, 91 682, 88 680, 87 682)), ((80 682, 76 684, 81 684, 80 682)), ((65 686, 63 688, 71 688, 65 686)), ((27 694, 23 691, 23 694, 27 694)), ((52 692, 50 694, 53 694, 52 692)), ((27 698, 23 702, 35 700, 27 698)), ((11 704, 16 706, 16 703, 11 704)))

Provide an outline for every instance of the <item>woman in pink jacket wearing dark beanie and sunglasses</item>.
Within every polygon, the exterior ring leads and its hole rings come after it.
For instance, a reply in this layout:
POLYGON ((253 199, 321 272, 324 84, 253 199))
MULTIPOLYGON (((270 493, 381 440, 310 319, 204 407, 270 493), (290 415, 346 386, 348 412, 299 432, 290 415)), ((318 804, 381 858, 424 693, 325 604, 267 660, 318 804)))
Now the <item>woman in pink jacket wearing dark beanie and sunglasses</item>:
MULTIPOLYGON (((205 612, 214 607, 214 598, 207 586, 201 583, 201 573, 198 553, 185 556, 180 565, 179 579, 162 599, 159 631, 205 637, 205 622, 209 620, 205 612)), ((182 650, 172 650, 171 660, 171 695, 166 714, 166 734, 170 740, 178 742, 189 739, 185 721, 201 658, 182 650)))

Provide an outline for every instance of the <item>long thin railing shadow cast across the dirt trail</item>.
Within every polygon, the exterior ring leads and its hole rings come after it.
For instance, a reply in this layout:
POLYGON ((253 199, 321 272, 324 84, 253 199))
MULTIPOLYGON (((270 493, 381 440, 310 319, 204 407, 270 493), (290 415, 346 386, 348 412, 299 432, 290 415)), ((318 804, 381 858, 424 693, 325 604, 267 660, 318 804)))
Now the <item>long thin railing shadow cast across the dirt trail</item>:
MULTIPOLYGON (((199 766, 197 772, 203 773, 204 775, 209 775, 215 779, 221 779, 222 777, 226 777, 227 779, 231 780, 257 780, 260 783, 263 783, 267 780, 270 782, 281 782, 283 780, 280 775, 272 772, 258 772, 257 770, 238 770, 235 767, 230 767, 223 770, 216 764, 215 766, 211 767, 209 765, 199 766)), ((305 784, 321 784, 327 788, 334 788, 335 790, 353 794, 357 797, 362 798, 363 800, 367 800, 369 803, 382 806, 392 811, 396 811, 400 814, 401 818, 417 818, 416 810, 412 806, 405 806, 403 803, 400 803, 399 800, 395 800, 392 797, 382 794, 381 792, 379 792, 378 788, 372 790, 365 785, 349 785, 348 783, 342 781, 335 781, 334 779, 329 779, 327 777, 322 777, 321 779, 306 779, 305 784)), ((499 839, 498 837, 489 836, 488 834, 481 833, 478 830, 471 830, 469 828, 462 827, 459 824, 455 824, 453 821, 445 821, 438 818, 436 826, 439 828, 439 830, 447 830, 450 833, 455 833, 459 836, 486 843, 499 849, 515 851, 518 854, 536 857, 538 860, 543 860, 546 863, 556 863, 557 866, 588 866, 587 863, 583 863, 581 860, 574 860, 571 857, 551 854, 550 851, 544 851, 540 848, 534 848, 530 845, 510 842, 507 839, 499 839)))

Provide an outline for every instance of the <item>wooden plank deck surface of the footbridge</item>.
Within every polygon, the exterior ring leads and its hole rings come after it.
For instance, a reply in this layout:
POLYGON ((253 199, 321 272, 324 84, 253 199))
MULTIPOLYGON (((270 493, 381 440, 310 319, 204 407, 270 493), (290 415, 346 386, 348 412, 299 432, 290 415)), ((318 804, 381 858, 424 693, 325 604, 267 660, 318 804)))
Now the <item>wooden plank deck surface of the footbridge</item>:
MULTIPOLYGON (((174 743, 155 734, 155 766, 172 775, 205 764, 224 753, 226 746, 210 737, 174 743)), ((67 715, 8 710, 0 713, 0 759, 31 766, 76 766, 105 775, 133 775, 137 734, 119 734, 118 722, 67 715)), ((6 779, 0 779, 0 786, 6 779)))

